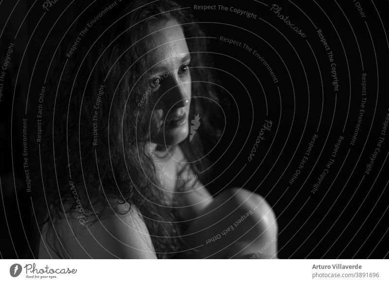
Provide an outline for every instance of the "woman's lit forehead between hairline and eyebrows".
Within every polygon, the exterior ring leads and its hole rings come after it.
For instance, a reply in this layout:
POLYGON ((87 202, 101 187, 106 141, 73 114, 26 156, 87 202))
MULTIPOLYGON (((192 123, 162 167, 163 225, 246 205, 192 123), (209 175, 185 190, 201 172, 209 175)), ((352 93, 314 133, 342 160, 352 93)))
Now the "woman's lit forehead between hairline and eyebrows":
POLYGON ((189 53, 185 36, 177 21, 169 20, 157 22, 150 27, 151 49, 150 54, 154 64, 180 60, 189 53))

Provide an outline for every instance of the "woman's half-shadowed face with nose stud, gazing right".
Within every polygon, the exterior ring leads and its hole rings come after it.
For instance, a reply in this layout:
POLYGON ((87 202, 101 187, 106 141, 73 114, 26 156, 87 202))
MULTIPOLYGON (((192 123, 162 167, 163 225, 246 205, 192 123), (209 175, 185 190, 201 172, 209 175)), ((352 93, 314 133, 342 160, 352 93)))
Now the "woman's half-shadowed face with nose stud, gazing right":
POLYGON ((152 142, 176 145, 189 133, 188 119, 191 104, 191 56, 185 36, 176 21, 165 21, 150 29, 152 68, 149 75, 150 95, 156 103, 153 121, 161 134, 152 142), (171 27, 174 26, 174 27, 171 27), (166 28, 166 29, 165 29, 166 28))

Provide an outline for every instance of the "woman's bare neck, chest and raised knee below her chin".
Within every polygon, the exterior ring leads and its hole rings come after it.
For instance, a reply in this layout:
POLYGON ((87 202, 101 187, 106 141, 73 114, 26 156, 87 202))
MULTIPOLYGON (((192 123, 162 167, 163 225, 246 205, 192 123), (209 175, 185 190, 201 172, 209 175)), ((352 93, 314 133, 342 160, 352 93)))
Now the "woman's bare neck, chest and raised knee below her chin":
POLYGON ((174 198, 178 206, 184 207, 179 209, 180 216, 190 221, 183 239, 196 248, 195 253, 181 257, 249 258, 255 253, 254 258, 258 259, 277 257, 277 222, 264 198, 241 188, 229 189, 213 197, 198 179, 184 182, 167 178, 166 175, 193 174, 182 165, 185 159, 179 147, 172 157, 159 159, 168 172, 160 175, 164 177, 164 188, 170 195, 168 199, 174 198), (180 193, 175 193, 177 191, 180 193), (247 217, 239 221, 242 215, 247 217), (212 241, 215 236, 217 238, 212 241))

